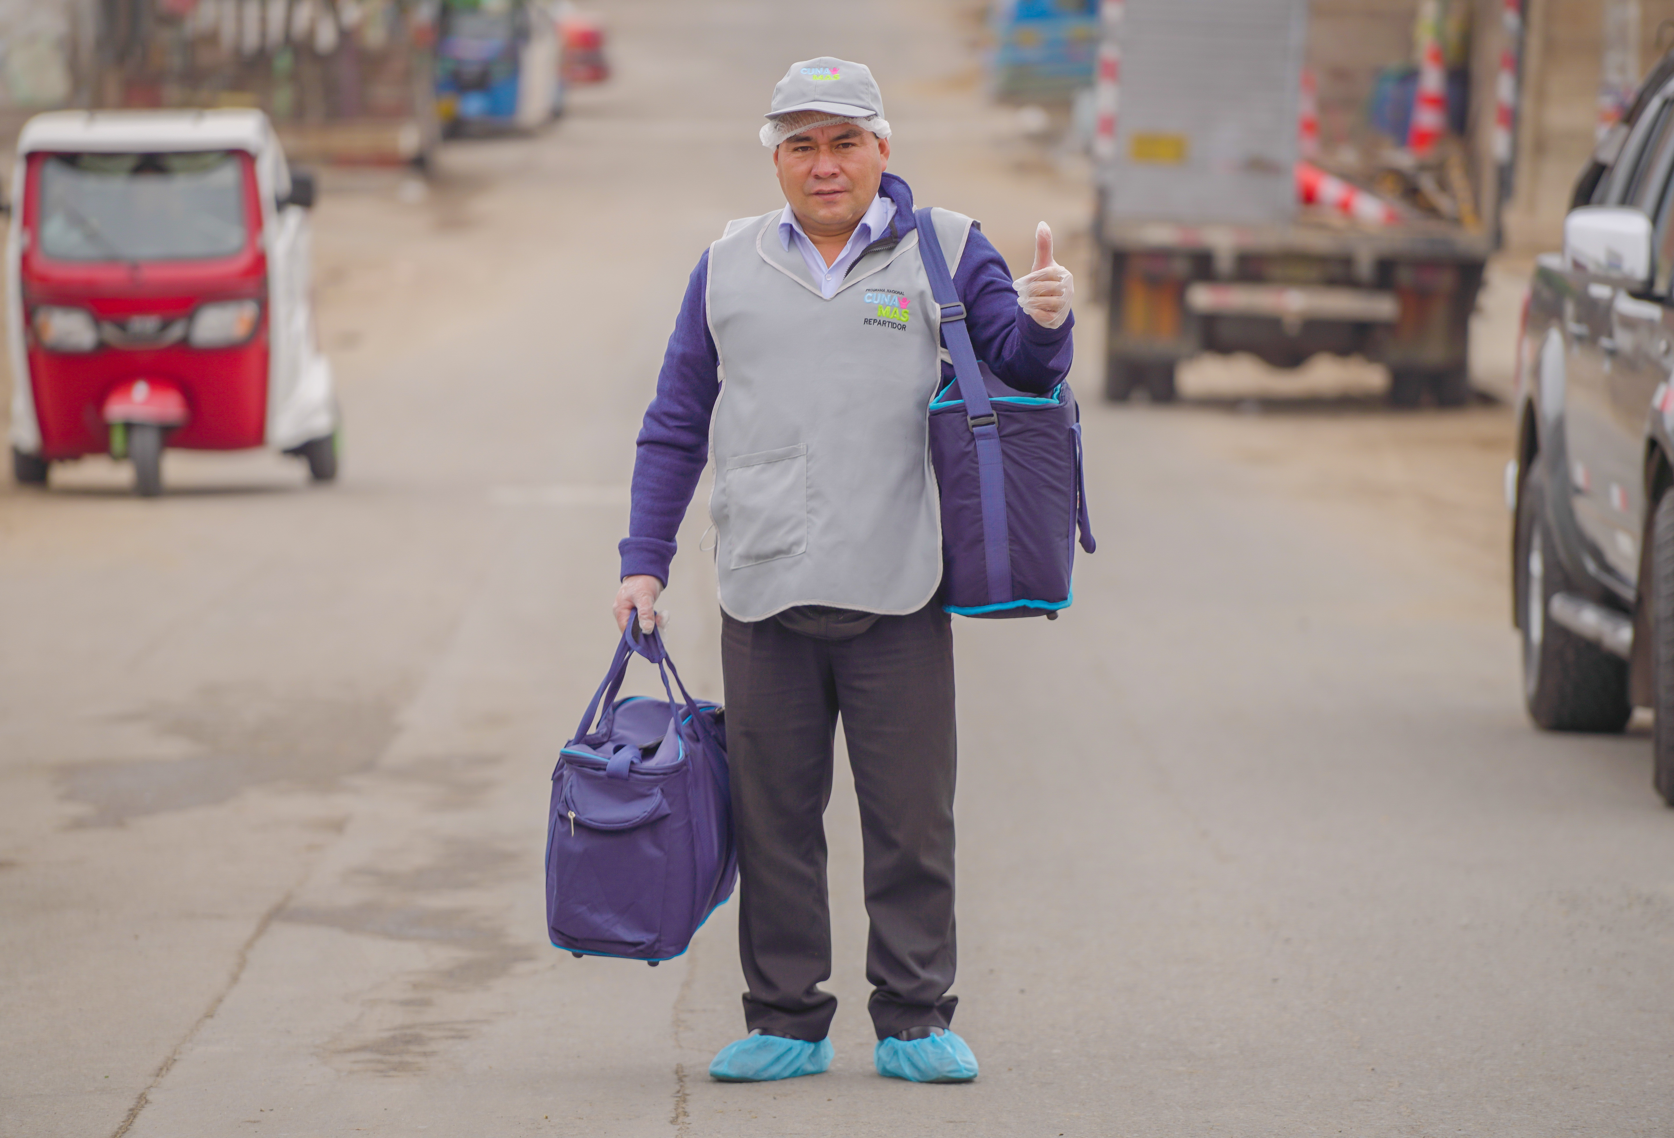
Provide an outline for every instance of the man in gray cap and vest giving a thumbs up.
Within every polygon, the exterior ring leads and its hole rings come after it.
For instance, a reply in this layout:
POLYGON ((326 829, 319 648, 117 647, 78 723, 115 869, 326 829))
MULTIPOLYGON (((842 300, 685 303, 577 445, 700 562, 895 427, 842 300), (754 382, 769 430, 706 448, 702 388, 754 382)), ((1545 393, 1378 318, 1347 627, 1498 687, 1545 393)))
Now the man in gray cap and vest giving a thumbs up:
POLYGON ((844 723, 865 857, 867 979, 881 1074, 976 1078, 956 1036, 953 629, 929 403, 939 241, 976 353, 1011 387, 1070 370, 1073 279, 1036 233, 1035 269, 961 214, 912 213, 870 70, 822 57, 773 89, 762 142, 785 208, 735 221, 698 259, 639 432, 616 621, 650 631, 708 454, 750 1036, 718 1079, 817 1074, 830 977, 824 812, 844 723))

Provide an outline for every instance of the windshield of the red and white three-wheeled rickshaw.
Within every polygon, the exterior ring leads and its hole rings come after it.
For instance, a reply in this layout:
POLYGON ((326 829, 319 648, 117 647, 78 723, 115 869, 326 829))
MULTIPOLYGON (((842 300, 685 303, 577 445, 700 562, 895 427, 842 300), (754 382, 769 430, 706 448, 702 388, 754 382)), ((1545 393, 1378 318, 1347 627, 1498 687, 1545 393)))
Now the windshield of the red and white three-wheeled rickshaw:
POLYGON ((40 164, 40 251, 65 261, 189 261, 239 253, 244 164, 229 151, 52 154, 40 164))

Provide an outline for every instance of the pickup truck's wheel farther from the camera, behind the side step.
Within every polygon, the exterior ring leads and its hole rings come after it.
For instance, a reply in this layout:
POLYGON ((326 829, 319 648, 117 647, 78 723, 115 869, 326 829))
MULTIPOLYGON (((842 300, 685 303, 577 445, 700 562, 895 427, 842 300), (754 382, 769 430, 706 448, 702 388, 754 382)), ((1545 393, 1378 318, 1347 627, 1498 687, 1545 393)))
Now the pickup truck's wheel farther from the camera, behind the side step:
POLYGON ((1528 718, 1547 731, 1620 731, 1634 713, 1627 701, 1627 661, 1547 618, 1552 594, 1567 582, 1547 520, 1545 472, 1538 462, 1518 495, 1513 549, 1528 718))

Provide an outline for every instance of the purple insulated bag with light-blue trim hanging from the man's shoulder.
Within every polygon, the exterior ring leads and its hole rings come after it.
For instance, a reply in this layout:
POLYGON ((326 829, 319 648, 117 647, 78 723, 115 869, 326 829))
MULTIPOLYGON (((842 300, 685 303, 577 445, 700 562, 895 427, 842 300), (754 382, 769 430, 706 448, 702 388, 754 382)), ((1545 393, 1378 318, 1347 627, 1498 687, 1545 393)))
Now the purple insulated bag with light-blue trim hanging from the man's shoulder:
POLYGON ((959 616, 1055 619, 1073 599, 1076 531, 1081 549, 1096 547, 1081 474, 1081 412, 1068 383, 1030 395, 976 360, 931 211, 919 209, 916 218, 919 256, 956 377, 929 408, 942 607, 959 616))

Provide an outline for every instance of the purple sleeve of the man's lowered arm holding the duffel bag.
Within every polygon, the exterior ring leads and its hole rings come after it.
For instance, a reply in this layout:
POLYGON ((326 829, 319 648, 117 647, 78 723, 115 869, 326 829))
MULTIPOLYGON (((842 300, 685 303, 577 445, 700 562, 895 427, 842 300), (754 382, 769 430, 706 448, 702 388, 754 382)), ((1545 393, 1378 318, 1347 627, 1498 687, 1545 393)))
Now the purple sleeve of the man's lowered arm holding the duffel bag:
POLYGON ((705 293, 710 251, 698 258, 656 377, 656 397, 644 412, 633 464, 628 537, 621 541, 621 576, 648 574, 665 586, 675 559, 675 534, 698 489, 710 450, 710 415, 720 395, 720 355, 710 335, 705 293))

